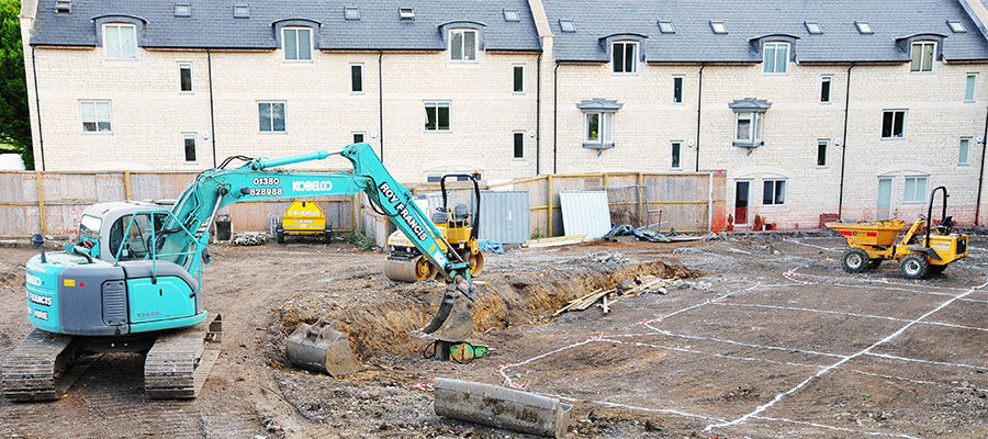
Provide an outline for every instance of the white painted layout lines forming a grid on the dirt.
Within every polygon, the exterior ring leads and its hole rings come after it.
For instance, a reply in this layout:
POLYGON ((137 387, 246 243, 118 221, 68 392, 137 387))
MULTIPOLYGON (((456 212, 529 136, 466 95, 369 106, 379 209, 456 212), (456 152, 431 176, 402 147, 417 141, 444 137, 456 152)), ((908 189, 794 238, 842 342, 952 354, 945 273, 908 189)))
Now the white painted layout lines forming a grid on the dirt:
MULTIPOLYGON (((828 251, 834 250, 834 249, 830 249, 827 247, 815 246, 815 245, 805 244, 805 243, 798 243, 793 239, 788 239, 787 241, 790 244, 804 245, 804 246, 819 248, 819 249, 828 250, 828 251)), ((882 353, 882 352, 873 352, 873 350, 875 348, 891 341, 892 339, 895 339, 896 337, 900 336, 902 333, 908 330, 910 327, 916 326, 916 325, 931 325, 931 326, 951 327, 951 328, 964 329, 964 330, 988 331, 988 328, 927 320, 927 318, 929 316, 945 308, 946 306, 951 305, 954 302, 988 303, 988 301, 968 299, 968 295, 983 290, 985 286, 988 286, 988 282, 985 282, 985 283, 983 283, 978 286, 972 288, 972 289, 939 286, 935 290, 940 290, 940 291, 931 291, 931 290, 918 290, 917 286, 921 286, 919 284, 890 282, 890 281, 884 280, 884 279, 877 279, 877 280, 876 279, 855 279, 856 281, 864 283, 865 285, 847 284, 846 279, 841 279, 841 278, 835 278, 835 277, 827 277, 827 275, 801 274, 797 271, 799 268, 800 267, 789 269, 783 274, 783 278, 786 279, 786 281, 788 281, 787 283, 762 284, 761 282, 757 282, 752 286, 748 286, 748 288, 740 289, 740 290, 737 290, 737 291, 733 291, 733 292, 730 292, 727 294, 722 294, 715 299, 706 300, 704 302, 696 303, 696 304, 686 306, 684 308, 671 312, 661 317, 655 317, 655 318, 647 319, 644 322, 639 322, 635 325, 638 327, 648 328, 648 331, 645 331, 645 333, 615 334, 615 335, 603 335, 602 334, 602 335, 598 335, 598 336, 595 336, 592 338, 587 338, 582 341, 573 342, 571 345, 563 346, 561 348, 538 354, 536 357, 529 358, 527 360, 524 360, 524 361, 520 361, 517 363, 503 364, 497 368, 497 372, 503 378, 505 385, 509 385, 513 387, 524 387, 523 384, 515 382, 510 378, 510 375, 507 373, 508 370, 514 369, 514 368, 525 367, 532 362, 537 362, 539 360, 546 359, 548 357, 552 357, 554 354, 558 354, 558 353, 561 353, 561 352, 564 352, 564 351, 568 351, 571 349, 576 349, 581 346, 595 344, 595 342, 629 346, 629 347, 637 347, 637 348, 663 349, 663 350, 682 352, 682 353, 687 353, 687 354, 707 356, 707 357, 712 357, 712 358, 737 360, 737 361, 763 362, 763 363, 768 363, 768 364, 788 365, 788 367, 794 367, 794 368, 816 369, 817 371, 812 375, 810 375, 809 378, 807 378, 806 380, 804 380, 796 386, 789 389, 788 391, 785 391, 785 392, 782 392, 782 393, 775 395, 775 397, 773 397, 771 401, 757 406, 751 413, 744 414, 744 415, 742 415, 736 419, 731 419, 731 420, 721 419, 716 416, 709 416, 709 415, 704 415, 704 414, 688 413, 688 412, 676 409, 676 408, 642 407, 642 406, 626 405, 626 404, 620 404, 620 403, 615 403, 615 402, 609 402, 609 401, 579 399, 579 398, 573 398, 573 397, 568 397, 568 396, 562 396, 562 395, 551 395, 551 394, 544 394, 544 395, 559 397, 564 401, 583 402, 583 403, 588 403, 588 404, 602 405, 602 406, 606 406, 606 407, 618 407, 618 408, 626 408, 626 409, 630 409, 630 410, 647 412, 647 413, 661 413, 661 414, 682 416, 682 417, 686 417, 686 418, 707 420, 711 424, 705 429, 705 431, 711 431, 714 429, 738 426, 740 424, 744 424, 748 420, 753 419, 753 420, 760 420, 760 421, 800 425, 800 426, 807 426, 807 427, 832 430, 832 431, 850 432, 850 434, 861 435, 861 436, 914 438, 913 436, 903 435, 903 434, 857 430, 857 429, 852 429, 852 428, 830 426, 830 425, 824 425, 824 424, 788 419, 788 418, 782 418, 782 417, 768 417, 768 416, 763 416, 762 414, 765 410, 767 410, 768 408, 773 407, 779 401, 785 398, 785 396, 788 396, 788 395, 791 395, 793 393, 798 392, 799 390, 806 387, 815 379, 817 379, 828 372, 838 370, 838 369, 840 369, 841 371, 850 372, 850 373, 880 378, 880 379, 889 380, 889 381, 902 381, 902 382, 909 382, 909 383, 913 383, 913 384, 955 389, 954 385, 943 383, 943 382, 934 382, 934 381, 918 380, 918 379, 911 379, 911 378, 905 378, 905 376, 874 373, 874 372, 868 372, 868 371, 863 371, 863 370, 846 367, 846 363, 849 361, 851 361, 855 358, 858 358, 858 357, 863 357, 863 356, 883 358, 883 359, 888 359, 888 360, 894 360, 894 361, 919 362, 919 363, 953 367, 953 368, 988 370, 988 367, 981 367, 981 365, 964 364, 964 363, 956 363, 956 362, 945 362, 945 361, 931 361, 931 360, 922 360, 922 359, 916 359, 916 358, 894 356, 894 354, 882 353), (756 290, 771 290, 771 289, 775 289, 775 288, 791 288, 791 286, 813 285, 813 284, 821 284, 821 283, 826 283, 826 284, 830 284, 830 285, 834 285, 834 286, 842 286, 842 288, 886 290, 886 291, 925 294, 925 295, 933 295, 933 296, 943 296, 943 297, 947 297, 947 300, 940 303, 933 309, 927 312, 925 314, 923 314, 920 317, 914 318, 914 319, 872 315, 872 314, 828 311, 828 309, 815 309, 815 308, 805 308, 805 307, 795 307, 795 306, 739 304, 739 303, 730 302, 731 299, 737 297, 738 295, 741 295, 741 294, 744 294, 748 292, 752 292, 752 291, 756 291, 756 290), (958 293, 948 293, 944 290, 957 291, 958 293), (851 353, 851 354, 821 352, 821 351, 796 349, 796 348, 789 348, 789 347, 783 347, 783 346, 767 346, 767 345, 750 344, 750 342, 723 339, 723 338, 718 338, 718 337, 704 337, 704 336, 687 335, 687 334, 676 334, 676 333, 667 331, 667 330, 660 329, 656 327, 656 325, 665 322, 666 319, 669 319, 671 317, 686 314, 686 313, 693 312, 695 309, 699 309, 707 305, 736 306, 736 307, 761 307, 761 308, 775 308, 778 311, 786 311, 786 312, 822 313, 822 314, 831 314, 831 315, 843 315, 843 316, 847 316, 847 317, 884 319, 884 320, 888 320, 888 322, 905 323, 905 325, 901 326, 895 333, 883 338, 882 340, 878 340, 875 344, 872 344, 871 346, 866 347, 865 349, 862 349, 862 350, 851 353), (767 358, 726 354, 726 353, 710 353, 710 352, 705 352, 705 351, 697 350, 697 349, 692 349, 689 347, 676 347, 676 346, 666 346, 666 345, 628 340, 629 338, 654 337, 654 336, 684 338, 684 339, 692 339, 692 340, 707 340, 707 341, 721 342, 721 344, 728 344, 728 345, 741 346, 741 347, 748 347, 748 348, 755 348, 755 349, 797 352, 797 353, 811 354, 811 356, 817 356, 817 357, 822 357, 822 358, 837 358, 838 361, 835 361, 829 365, 828 364, 809 364, 809 363, 800 363, 800 362, 791 362, 791 361, 779 361, 779 360, 773 360, 773 359, 767 359, 767 358)), ((969 387, 969 389, 975 389, 976 391, 980 391, 980 392, 988 391, 988 390, 976 389, 976 387, 969 387)))

